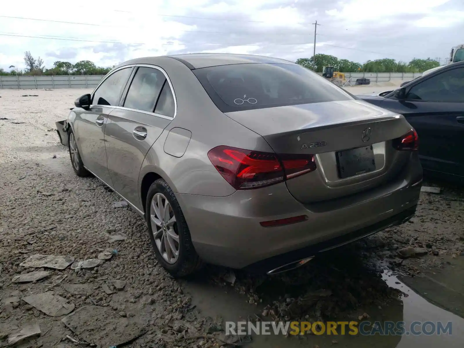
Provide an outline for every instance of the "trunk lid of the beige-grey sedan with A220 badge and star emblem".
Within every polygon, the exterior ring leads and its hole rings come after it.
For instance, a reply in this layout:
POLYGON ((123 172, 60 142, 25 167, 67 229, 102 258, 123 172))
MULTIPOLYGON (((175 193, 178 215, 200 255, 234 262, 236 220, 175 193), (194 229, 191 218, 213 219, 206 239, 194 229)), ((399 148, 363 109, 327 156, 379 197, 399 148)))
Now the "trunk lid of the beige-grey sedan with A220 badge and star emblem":
POLYGON ((277 154, 315 155, 316 171, 286 181, 301 202, 331 200, 381 185, 392 180, 409 158, 408 152, 391 144, 411 129, 406 119, 360 100, 226 115, 262 135, 277 154))

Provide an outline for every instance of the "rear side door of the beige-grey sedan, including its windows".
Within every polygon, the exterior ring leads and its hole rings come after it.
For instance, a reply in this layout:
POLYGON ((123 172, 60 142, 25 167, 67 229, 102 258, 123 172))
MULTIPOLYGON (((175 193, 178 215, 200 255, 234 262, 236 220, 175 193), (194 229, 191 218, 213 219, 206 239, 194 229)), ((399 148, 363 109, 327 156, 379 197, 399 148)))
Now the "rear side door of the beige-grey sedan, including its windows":
POLYGON ((176 104, 167 74, 153 65, 138 66, 126 90, 105 129, 108 169, 116 192, 143 211, 138 194, 142 162, 174 118, 176 104))

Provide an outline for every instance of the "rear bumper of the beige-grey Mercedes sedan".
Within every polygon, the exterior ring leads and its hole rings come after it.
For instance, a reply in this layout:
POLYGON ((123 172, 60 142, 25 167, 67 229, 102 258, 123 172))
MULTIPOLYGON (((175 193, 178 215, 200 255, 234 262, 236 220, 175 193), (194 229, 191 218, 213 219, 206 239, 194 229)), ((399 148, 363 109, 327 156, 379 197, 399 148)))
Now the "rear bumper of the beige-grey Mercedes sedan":
POLYGON ((395 180, 321 203, 296 201, 285 183, 227 197, 176 196, 201 258, 232 268, 262 268, 291 254, 297 259, 303 254, 303 258, 313 256, 308 254, 401 223, 416 209, 421 180, 422 168, 415 155, 395 180), (286 226, 259 224, 299 215, 308 219, 286 226))

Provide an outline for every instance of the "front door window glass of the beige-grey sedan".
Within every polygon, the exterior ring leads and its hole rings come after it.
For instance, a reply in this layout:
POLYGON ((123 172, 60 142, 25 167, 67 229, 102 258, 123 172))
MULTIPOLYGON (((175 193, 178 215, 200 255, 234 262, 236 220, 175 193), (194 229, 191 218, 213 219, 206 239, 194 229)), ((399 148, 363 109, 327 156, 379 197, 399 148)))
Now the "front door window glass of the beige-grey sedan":
POLYGON ((112 73, 95 91, 92 104, 118 105, 131 72, 132 68, 130 67, 112 73))

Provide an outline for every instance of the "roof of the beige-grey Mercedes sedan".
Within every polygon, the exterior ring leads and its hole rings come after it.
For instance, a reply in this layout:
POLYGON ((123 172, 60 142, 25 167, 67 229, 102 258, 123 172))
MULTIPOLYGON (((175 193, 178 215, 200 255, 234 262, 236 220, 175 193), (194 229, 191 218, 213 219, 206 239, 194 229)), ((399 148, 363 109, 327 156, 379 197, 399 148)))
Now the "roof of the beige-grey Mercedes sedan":
MULTIPOLYGON (((255 56, 251 54, 233 54, 233 53, 190 53, 190 54, 177 54, 161 57, 169 57, 176 59, 191 70, 201 69, 210 66, 230 65, 230 64, 247 64, 247 63, 280 63, 280 64, 293 64, 289 60, 280 58, 271 58, 264 56, 255 56)), ((159 64, 161 57, 144 57, 131 59, 127 62, 120 64, 159 64)))

